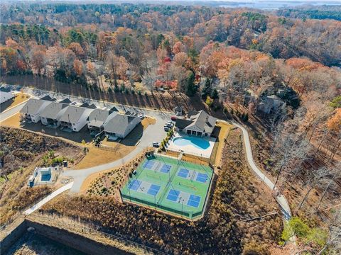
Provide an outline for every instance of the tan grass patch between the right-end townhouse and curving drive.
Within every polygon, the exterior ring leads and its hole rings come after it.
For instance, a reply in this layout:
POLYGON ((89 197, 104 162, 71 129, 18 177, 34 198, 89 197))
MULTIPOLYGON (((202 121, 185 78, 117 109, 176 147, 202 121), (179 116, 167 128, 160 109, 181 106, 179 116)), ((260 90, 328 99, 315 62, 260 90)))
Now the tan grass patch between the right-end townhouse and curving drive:
POLYGON ((116 143, 116 151, 109 151, 104 149, 99 149, 97 147, 89 147, 89 152, 85 157, 75 166, 75 169, 85 169, 92 166, 98 166, 101 164, 107 164, 109 162, 114 162, 117 159, 121 159, 130 152, 132 152, 136 147, 126 146, 116 143))

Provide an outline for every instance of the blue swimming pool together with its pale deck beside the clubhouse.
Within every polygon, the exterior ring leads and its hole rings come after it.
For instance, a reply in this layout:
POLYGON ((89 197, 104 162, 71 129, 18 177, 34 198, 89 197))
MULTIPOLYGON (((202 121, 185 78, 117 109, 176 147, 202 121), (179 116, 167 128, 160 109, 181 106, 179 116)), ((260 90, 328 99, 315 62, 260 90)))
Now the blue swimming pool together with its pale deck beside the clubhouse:
POLYGON ((174 152, 184 152, 204 158, 210 158, 215 146, 214 137, 197 137, 193 135, 183 135, 175 133, 168 142, 167 149, 174 152))

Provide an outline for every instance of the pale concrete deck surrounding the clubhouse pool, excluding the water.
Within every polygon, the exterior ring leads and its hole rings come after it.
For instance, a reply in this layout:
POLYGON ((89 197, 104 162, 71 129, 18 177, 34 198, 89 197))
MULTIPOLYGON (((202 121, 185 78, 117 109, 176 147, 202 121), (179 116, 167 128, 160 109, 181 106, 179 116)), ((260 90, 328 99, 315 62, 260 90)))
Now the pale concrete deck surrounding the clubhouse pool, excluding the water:
POLYGON ((190 135, 185 135, 185 134, 179 134, 178 132, 175 132, 175 135, 172 137, 171 140, 169 140, 169 144, 167 146, 167 149, 173 151, 173 152, 183 152, 185 154, 192 154, 194 156, 200 156, 203 158, 210 158, 212 154, 213 147, 215 147, 215 141, 216 138, 214 137, 197 137, 203 140, 206 140, 207 142, 210 143, 210 146, 207 149, 202 149, 202 148, 197 148, 193 145, 175 145, 173 140, 176 137, 193 137, 190 135))

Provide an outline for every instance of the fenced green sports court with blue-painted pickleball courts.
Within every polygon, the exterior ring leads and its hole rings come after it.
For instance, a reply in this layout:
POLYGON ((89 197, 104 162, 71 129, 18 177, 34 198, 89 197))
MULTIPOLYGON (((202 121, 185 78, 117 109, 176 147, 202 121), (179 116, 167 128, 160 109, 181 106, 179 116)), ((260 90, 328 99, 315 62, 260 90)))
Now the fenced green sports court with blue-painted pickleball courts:
POLYGON ((121 196, 125 202, 194 219, 205 209, 212 176, 209 166, 153 156, 137 167, 121 196))

